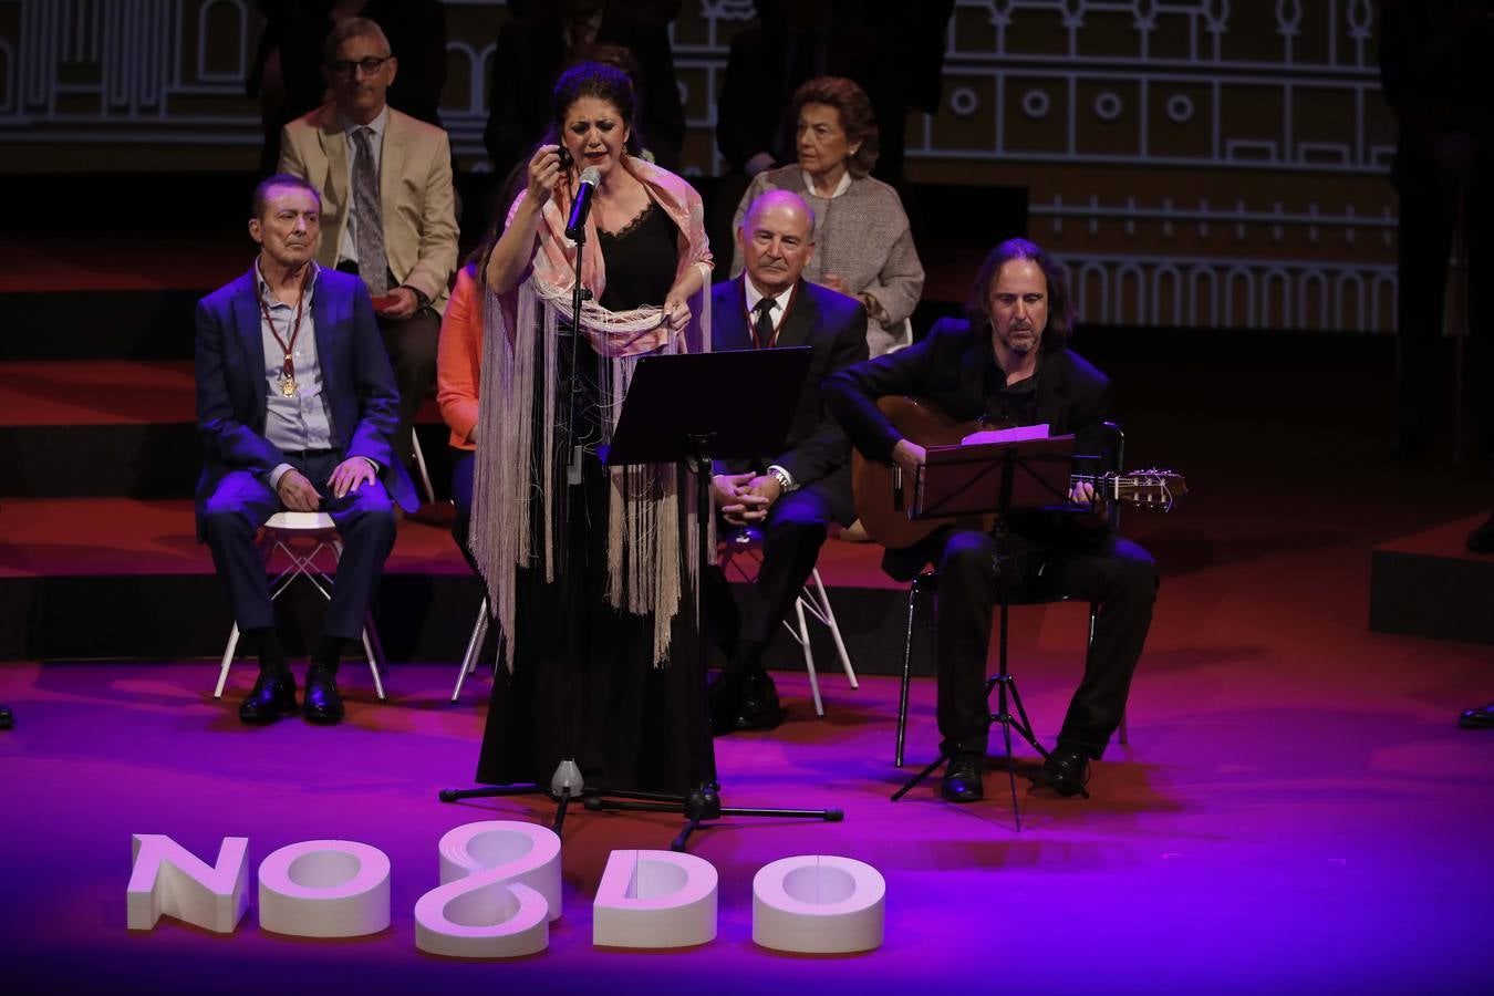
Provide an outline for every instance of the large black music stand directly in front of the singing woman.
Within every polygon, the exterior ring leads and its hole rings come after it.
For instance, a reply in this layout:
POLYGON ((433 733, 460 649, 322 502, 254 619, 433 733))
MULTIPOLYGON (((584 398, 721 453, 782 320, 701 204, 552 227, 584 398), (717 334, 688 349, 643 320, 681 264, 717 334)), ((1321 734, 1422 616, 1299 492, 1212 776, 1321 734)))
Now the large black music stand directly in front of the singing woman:
MULTIPOLYGON (((756 457, 778 452, 789 435, 793 411, 804 390, 811 349, 793 346, 780 349, 748 349, 740 352, 705 352, 684 355, 642 357, 633 367, 623 411, 613 430, 611 445, 601 451, 607 466, 684 461, 695 475, 698 578, 704 578, 710 563, 708 529, 711 521, 711 461, 713 458, 756 457), (753 399, 750 405, 723 405, 723 399, 753 399)), ((696 759, 714 757, 714 742, 707 723, 705 703, 705 641, 696 641, 696 660, 675 662, 690 667, 687 699, 695 703, 686 717, 687 741, 696 759)), ((714 769, 714 765, 711 765, 714 769)), ((492 788, 447 790, 444 802, 478 796, 502 796, 536 791, 535 785, 498 785, 492 788)), ((559 833, 565 806, 572 797, 569 787, 547 793, 556 799, 554 829, 559 833)), ((720 785, 701 784, 684 796, 651 791, 622 791, 581 785, 580 796, 587 811, 680 812, 686 826, 669 845, 683 851, 690 835, 707 820, 723 815, 780 817, 838 821, 840 809, 747 809, 723 806, 720 785)))

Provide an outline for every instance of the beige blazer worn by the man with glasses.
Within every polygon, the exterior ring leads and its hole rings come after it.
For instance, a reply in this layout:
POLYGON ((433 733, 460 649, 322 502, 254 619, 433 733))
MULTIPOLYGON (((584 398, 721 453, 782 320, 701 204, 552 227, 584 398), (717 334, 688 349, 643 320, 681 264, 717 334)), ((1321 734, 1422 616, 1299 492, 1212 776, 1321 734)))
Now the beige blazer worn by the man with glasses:
MULTIPOLYGON (((285 125, 279 169, 305 178, 321 191, 317 263, 336 266, 353 191, 348 188, 348 140, 335 103, 285 125)), ((390 272, 400 284, 429 297, 436 311, 444 311, 447 285, 457 269, 457 221, 451 145, 442 128, 388 109, 379 155, 379 202, 390 272)))

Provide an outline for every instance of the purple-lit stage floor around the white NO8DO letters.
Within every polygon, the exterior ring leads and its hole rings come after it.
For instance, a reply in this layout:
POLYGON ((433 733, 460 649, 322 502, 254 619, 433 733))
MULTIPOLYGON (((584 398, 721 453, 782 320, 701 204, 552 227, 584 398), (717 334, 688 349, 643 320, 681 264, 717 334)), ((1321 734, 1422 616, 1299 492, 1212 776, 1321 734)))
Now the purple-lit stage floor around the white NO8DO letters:
MULTIPOLYGON (((720 872, 719 938, 629 954, 590 944, 601 869, 613 848, 666 847, 678 824, 574 811, 565 917, 545 954, 505 965, 414 945, 412 908, 438 884, 444 832, 551 815, 529 799, 435 800, 471 776, 486 676, 450 706, 451 664, 399 666, 391 700, 376 705, 366 672, 350 667, 344 726, 247 729, 230 700, 211 699, 211 662, 6 666, 0 700, 19 717, 0 733, 6 992, 1478 992, 1494 923, 1484 887, 1494 745, 1451 717, 1487 694, 1484 651, 1428 656, 1331 609, 1303 627, 1271 597, 1253 600, 1255 624, 1240 629, 1240 615, 1210 611, 1210 579, 1197 590, 1170 599, 1132 697, 1132 745, 1097 765, 1091 800, 1023 793, 1017 835, 992 762, 983 803, 946 805, 929 787, 890 803, 895 682, 850 693, 828 678, 819 721, 802 678, 784 676, 786 726, 717 741, 725 799, 841 806, 846 821, 723 820, 701 832, 692 851, 720 872), (223 836, 248 836, 251 890, 252 869, 285 844, 375 845, 393 862, 393 924, 360 941, 294 941, 263 932, 251 911, 232 936, 172 921, 130 933, 124 888, 140 832, 209 860, 223 836), (751 942, 753 872, 814 853, 886 877, 881 950, 804 959, 751 942)), ((1068 636, 1020 641, 1044 730, 1077 678, 1068 636)), ((249 670, 235 673, 230 699, 249 670)), ((935 739, 932 684, 920 679, 911 759, 935 739)))

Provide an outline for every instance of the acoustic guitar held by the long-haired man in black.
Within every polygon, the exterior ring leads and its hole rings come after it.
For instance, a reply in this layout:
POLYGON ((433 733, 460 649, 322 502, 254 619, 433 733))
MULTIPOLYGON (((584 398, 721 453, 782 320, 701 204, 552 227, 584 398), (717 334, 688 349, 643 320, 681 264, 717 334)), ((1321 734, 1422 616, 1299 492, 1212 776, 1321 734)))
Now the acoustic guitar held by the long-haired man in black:
MULTIPOLYGON (((881 414, 896 426, 898 432, 920 446, 958 446, 971 433, 996 429, 985 421, 956 421, 926 399, 887 396, 877 400, 881 414)), ((958 524, 964 529, 991 530, 995 515, 967 515, 950 518, 908 518, 914 506, 916 482, 908 475, 902 478, 902 499, 895 491, 893 467, 867 460, 861 451, 852 452, 852 488, 856 494, 856 514, 867 535, 883 547, 899 550, 911 547, 935 529, 958 524)), ((1173 502, 1188 494, 1188 484, 1180 473, 1171 470, 1135 470, 1131 473, 1076 473, 1070 484, 1088 481, 1109 502, 1125 502, 1141 508, 1170 509, 1173 502)))

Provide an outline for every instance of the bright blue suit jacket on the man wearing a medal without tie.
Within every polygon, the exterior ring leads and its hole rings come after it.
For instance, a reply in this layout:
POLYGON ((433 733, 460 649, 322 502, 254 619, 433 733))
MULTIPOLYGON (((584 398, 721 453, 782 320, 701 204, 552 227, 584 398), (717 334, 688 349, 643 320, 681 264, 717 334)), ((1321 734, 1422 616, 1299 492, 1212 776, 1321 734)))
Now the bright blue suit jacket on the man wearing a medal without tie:
MULTIPOLYGON (((287 463, 264 438, 264 343, 254 267, 197 302, 197 430, 203 442, 197 481, 197 529, 203 505, 229 472, 267 475, 287 463)), ((390 496, 406 511, 420 500, 390 436, 399 423, 399 388, 374 320, 368 288, 356 276, 323 269, 311 297, 332 432, 344 457, 368 457, 390 496)))

